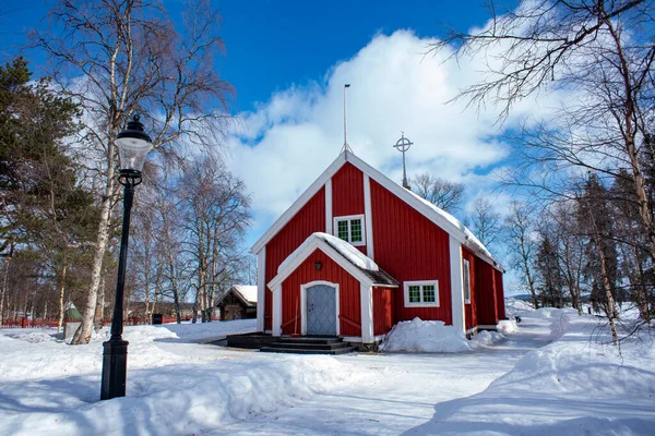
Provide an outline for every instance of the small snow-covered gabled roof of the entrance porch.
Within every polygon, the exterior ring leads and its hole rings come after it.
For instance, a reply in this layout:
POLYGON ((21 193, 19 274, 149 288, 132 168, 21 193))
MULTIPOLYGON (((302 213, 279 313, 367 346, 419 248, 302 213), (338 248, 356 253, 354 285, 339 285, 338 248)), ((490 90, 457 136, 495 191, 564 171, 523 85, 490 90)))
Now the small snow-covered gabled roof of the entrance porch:
POLYGON ((348 274, 368 286, 396 288, 398 281, 381 269, 372 259, 347 242, 332 234, 317 232, 305 240, 298 249, 277 267, 277 275, 267 283, 272 291, 305 262, 317 249, 320 249, 332 261, 348 274))

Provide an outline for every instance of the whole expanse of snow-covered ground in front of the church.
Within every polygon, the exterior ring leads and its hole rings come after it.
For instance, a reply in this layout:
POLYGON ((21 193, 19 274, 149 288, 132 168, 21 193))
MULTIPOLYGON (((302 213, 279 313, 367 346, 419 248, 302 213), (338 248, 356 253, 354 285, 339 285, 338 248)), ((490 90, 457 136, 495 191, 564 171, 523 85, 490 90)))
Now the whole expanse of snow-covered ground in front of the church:
POLYGON ((597 342, 598 318, 509 308, 523 323, 507 339, 446 354, 200 343, 252 320, 128 327, 128 396, 103 402, 103 334, 71 347, 48 329, 0 330, 0 435, 655 434, 650 337, 619 353, 597 342))

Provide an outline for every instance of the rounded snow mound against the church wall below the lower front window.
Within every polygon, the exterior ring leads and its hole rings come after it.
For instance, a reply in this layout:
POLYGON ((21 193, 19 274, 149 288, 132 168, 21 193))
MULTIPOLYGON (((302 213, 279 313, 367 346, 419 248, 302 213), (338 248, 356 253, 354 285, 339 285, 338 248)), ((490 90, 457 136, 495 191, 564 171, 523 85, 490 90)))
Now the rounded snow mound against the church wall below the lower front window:
POLYGON ((396 324, 381 346, 383 351, 419 353, 457 353, 469 351, 471 344, 461 330, 441 320, 416 317, 396 324))

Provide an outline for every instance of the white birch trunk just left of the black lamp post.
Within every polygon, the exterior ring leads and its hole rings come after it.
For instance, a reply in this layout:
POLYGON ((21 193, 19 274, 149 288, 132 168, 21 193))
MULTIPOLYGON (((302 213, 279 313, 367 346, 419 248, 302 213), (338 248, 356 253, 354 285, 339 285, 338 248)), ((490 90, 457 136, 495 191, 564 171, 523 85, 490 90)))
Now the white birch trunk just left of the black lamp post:
MULTIPOLYGON (((111 136, 114 138, 114 136, 111 136)), ((109 141, 110 144, 114 141, 109 141)), ((114 149, 111 145, 110 150, 114 149)), ((111 153, 110 153, 111 155, 111 153)), ((109 242, 109 220, 111 218, 111 203, 115 191, 114 181, 114 169, 115 162, 114 157, 109 159, 109 169, 107 171, 107 186, 105 189, 105 196, 100 206, 100 222, 98 225, 98 238, 95 245, 95 252, 93 254, 93 264, 91 271, 91 286, 88 288, 88 295, 86 296, 86 304, 84 305, 84 312, 82 314, 82 324, 75 335, 71 344, 88 343, 91 341, 91 335, 93 334, 93 320, 96 311, 96 304, 98 301, 98 289, 100 287, 100 279, 103 274, 103 259, 105 257, 105 251, 107 250, 107 243, 109 242)))

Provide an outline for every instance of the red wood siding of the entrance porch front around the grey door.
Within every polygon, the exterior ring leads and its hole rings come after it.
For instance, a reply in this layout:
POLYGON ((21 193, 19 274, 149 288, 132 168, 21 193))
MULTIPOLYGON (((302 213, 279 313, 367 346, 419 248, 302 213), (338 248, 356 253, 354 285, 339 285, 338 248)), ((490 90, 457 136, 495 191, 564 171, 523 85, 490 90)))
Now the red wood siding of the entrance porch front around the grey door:
MULTIPOLYGON (((267 250, 267 249, 266 249, 267 250)), ((361 300, 359 281, 338 266, 320 249, 309 255, 298 268, 282 283, 282 325, 283 335, 300 332, 300 286, 315 280, 338 283, 338 311, 341 336, 361 336, 361 300), (317 270, 314 264, 323 264, 317 270), (298 317, 297 323, 295 318, 298 317), (344 320, 347 318, 349 322, 344 320), (359 327, 353 326, 354 324, 359 327), (294 325, 297 325, 294 331, 294 325)), ((336 315, 335 315, 336 316, 336 315)))

